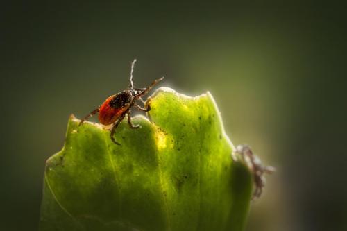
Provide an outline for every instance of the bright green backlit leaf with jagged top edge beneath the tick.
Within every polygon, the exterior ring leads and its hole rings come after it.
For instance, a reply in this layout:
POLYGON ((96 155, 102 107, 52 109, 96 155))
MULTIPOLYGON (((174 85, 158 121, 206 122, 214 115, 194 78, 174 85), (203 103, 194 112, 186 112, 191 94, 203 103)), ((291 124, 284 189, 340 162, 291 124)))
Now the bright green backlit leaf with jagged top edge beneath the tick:
POLYGON ((40 230, 243 230, 252 177, 210 93, 158 89, 149 119, 110 131, 71 116, 46 162, 40 230))

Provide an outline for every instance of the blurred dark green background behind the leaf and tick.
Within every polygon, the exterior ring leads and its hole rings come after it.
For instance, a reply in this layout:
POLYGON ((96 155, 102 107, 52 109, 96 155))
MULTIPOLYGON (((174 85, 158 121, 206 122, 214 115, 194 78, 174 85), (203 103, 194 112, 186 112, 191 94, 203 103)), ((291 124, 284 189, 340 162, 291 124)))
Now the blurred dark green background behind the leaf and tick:
MULTIPOLYGON (((37 230, 69 114, 128 85, 212 92, 268 177, 247 230, 347 230, 346 8, 332 3, 1 6, 0 230, 37 230)), ((173 118, 175 119, 175 118, 173 118)))

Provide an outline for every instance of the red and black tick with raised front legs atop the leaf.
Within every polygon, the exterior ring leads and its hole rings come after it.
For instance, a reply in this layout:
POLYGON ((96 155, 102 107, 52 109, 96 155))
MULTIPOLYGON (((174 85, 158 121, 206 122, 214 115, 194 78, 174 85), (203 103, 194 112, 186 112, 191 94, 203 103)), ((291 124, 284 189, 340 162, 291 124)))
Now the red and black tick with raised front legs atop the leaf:
POLYGON ((148 106, 147 108, 142 108, 140 105, 136 103, 137 100, 142 101, 144 103, 144 100, 141 98, 142 96, 149 93, 149 91, 154 87, 157 83, 159 83, 164 77, 158 78, 157 80, 153 81, 149 87, 146 88, 135 88, 133 84, 133 71, 135 66, 136 60, 133 60, 131 64, 131 71, 130 71, 130 83, 129 87, 125 89, 122 92, 119 92, 117 94, 114 94, 108 99, 106 99, 98 108, 90 112, 90 114, 87 114, 87 116, 81 120, 81 122, 78 124, 78 126, 81 126, 83 121, 86 121, 89 117, 94 116, 94 114, 99 112, 99 121, 103 125, 111 125, 112 128, 110 129, 110 136, 112 142, 114 142, 117 145, 120 145, 114 135, 115 130, 119 126, 119 123, 124 119, 126 114, 128 114, 128 124, 130 128, 139 128, 139 124, 134 125, 131 121, 131 111, 130 109, 135 107, 137 110, 143 111, 143 112, 149 112, 151 108, 148 106))

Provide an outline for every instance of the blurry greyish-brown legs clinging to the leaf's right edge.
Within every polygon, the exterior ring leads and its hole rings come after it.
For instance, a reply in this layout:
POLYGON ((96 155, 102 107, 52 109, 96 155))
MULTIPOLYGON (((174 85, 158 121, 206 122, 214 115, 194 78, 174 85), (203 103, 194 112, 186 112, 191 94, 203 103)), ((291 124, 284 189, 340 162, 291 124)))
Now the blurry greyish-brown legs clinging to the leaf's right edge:
POLYGON ((264 166, 260 159, 253 154, 253 151, 249 146, 239 145, 236 148, 235 153, 242 155, 242 158, 246 162, 248 169, 253 173, 253 180, 255 183, 255 190, 253 192, 253 198, 258 198, 262 195, 262 189, 265 186, 264 173, 273 173, 275 168, 272 166, 264 166))

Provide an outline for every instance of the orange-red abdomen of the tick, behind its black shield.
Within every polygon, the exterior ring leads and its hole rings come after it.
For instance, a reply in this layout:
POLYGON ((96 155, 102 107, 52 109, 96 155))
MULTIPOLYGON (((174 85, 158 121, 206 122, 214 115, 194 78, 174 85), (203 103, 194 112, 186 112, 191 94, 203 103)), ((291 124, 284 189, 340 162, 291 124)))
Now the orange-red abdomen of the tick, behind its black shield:
POLYGON ((111 123, 115 123, 117 119, 126 111, 126 107, 124 108, 112 108, 110 106, 110 101, 115 96, 110 96, 106 99, 103 104, 99 108, 99 121, 103 125, 109 125, 111 123))

